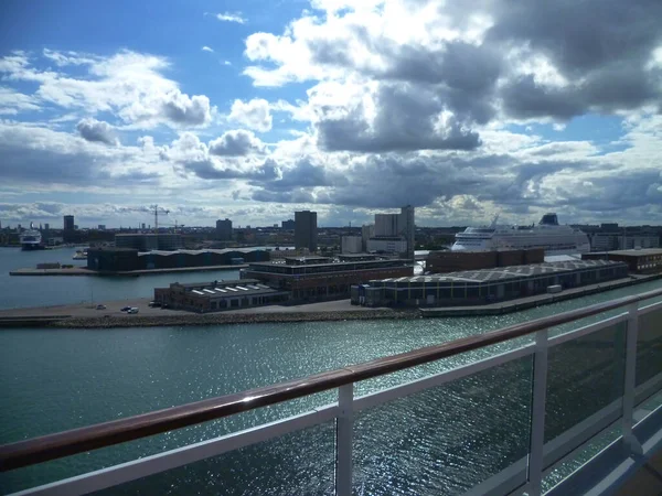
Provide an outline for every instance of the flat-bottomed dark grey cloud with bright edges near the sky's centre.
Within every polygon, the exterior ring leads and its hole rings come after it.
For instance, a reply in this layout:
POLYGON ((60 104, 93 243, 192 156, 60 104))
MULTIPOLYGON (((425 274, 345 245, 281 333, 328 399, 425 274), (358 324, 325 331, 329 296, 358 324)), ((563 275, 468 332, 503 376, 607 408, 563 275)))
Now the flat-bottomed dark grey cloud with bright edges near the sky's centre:
POLYGON ((362 106, 343 118, 322 115, 316 123, 320 147, 328 151, 385 152, 473 150, 480 144, 478 133, 455 118, 446 122, 446 129, 437 128, 444 107, 430 91, 403 84, 381 85, 375 107, 373 122, 367 121, 362 106))

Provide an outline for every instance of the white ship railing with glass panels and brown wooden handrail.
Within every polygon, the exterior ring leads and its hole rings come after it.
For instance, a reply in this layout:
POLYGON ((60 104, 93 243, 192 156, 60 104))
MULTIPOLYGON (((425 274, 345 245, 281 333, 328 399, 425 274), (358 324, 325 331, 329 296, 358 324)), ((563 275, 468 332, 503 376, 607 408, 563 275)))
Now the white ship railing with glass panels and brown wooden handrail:
MULTIPOLYGON (((658 289, 302 379, 6 444, 0 476, 13 474, 25 487, 40 481, 35 474, 45 462, 333 395, 335 400, 295 416, 21 494, 107 488, 130 494, 132 484, 149 494, 160 493, 159 484, 189 493, 197 490, 195 483, 217 494, 229 493, 232 484, 248 485, 245 494, 608 493, 662 446, 661 296, 658 289), (177 472, 196 463, 209 464, 196 472, 199 481, 177 472), (30 470, 22 478, 21 471, 30 470)), ((77 463, 86 466, 79 456, 77 463)))

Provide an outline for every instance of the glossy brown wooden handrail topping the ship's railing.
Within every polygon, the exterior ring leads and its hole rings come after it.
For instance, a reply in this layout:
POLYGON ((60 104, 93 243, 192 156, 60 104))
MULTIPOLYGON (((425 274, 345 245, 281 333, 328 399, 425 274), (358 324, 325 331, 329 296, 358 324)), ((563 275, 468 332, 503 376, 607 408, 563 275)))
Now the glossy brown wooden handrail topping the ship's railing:
POLYGON ((85 453, 90 450, 111 446, 301 398, 316 392, 327 391, 351 382, 395 373, 525 336, 544 328, 597 315, 598 313, 656 296, 662 296, 662 289, 549 315, 485 334, 463 337, 440 345, 428 346, 337 370, 316 374, 302 379, 4 444, 0 446, 0 472, 34 465, 77 453, 85 453))

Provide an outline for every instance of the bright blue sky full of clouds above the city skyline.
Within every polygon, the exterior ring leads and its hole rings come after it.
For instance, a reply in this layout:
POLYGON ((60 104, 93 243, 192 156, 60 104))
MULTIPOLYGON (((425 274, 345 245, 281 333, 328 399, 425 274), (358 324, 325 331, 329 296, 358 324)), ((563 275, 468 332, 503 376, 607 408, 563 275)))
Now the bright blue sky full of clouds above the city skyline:
POLYGON ((662 224, 659 0, 0 4, 0 222, 662 224))

